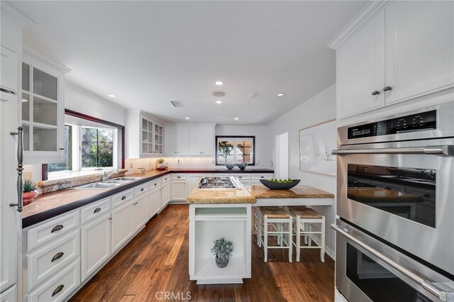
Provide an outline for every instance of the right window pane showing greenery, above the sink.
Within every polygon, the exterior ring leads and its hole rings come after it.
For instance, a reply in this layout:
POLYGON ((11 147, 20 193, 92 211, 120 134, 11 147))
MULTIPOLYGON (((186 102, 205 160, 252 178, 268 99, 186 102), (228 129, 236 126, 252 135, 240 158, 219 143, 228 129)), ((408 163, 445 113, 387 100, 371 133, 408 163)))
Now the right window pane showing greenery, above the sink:
POLYGON ((81 127, 82 168, 113 167, 114 130, 81 127))

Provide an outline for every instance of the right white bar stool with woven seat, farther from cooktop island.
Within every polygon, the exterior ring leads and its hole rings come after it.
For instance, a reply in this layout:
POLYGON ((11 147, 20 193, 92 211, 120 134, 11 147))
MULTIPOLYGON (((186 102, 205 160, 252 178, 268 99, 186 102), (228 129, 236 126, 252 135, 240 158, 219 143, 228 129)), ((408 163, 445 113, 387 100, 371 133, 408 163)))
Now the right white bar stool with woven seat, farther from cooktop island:
POLYGON ((299 262, 301 249, 320 249, 321 262, 325 262, 325 216, 305 206, 289 206, 288 211, 295 220, 294 233, 297 238, 294 246, 297 247, 297 262, 299 262), (320 231, 312 231, 312 223, 320 223, 320 231), (320 246, 311 246, 313 234, 320 234, 320 246), (304 236, 306 246, 301 246, 301 235, 304 236))

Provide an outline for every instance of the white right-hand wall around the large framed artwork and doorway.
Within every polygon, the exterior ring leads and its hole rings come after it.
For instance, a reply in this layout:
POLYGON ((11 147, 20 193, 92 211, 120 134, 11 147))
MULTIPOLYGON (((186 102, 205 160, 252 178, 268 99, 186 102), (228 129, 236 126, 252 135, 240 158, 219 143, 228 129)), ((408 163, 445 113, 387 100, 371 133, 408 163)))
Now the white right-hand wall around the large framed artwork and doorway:
MULTIPOLYGON (((275 138, 275 135, 286 130, 289 131, 290 178, 301 179, 301 184, 309 184, 332 194, 336 194, 336 177, 299 170, 299 130, 335 118, 336 86, 333 85, 271 123, 268 132, 270 136, 275 138)), ((275 140, 272 140, 272 142, 272 158, 275 161, 275 140)), ((333 203, 333 206, 319 206, 314 207, 314 209, 326 217, 326 246, 334 251, 335 233, 329 228, 329 225, 336 221, 336 202, 333 203)))

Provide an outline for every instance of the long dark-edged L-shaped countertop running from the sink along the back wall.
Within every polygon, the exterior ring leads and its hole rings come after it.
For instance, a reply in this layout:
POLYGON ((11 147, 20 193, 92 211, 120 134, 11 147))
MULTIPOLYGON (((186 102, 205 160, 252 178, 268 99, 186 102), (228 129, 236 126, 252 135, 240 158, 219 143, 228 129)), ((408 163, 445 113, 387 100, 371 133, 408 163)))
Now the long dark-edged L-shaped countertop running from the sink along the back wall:
POLYGON ((86 206, 94 201, 109 197, 121 191, 131 189, 153 179, 158 179, 171 173, 274 173, 271 169, 168 169, 153 170, 145 173, 127 175, 128 177, 140 177, 136 181, 128 182, 111 189, 64 189, 47 194, 38 195, 33 203, 23 207, 22 228, 40 223, 49 218, 59 216, 76 208, 86 206))

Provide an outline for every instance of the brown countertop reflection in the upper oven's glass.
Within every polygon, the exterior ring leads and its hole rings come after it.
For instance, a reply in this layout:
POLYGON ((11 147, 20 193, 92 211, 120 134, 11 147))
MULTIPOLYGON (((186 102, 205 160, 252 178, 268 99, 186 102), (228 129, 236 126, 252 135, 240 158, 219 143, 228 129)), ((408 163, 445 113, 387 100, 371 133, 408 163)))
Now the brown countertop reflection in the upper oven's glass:
POLYGON ((419 203, 424 198, 413 194, 380 188, 348 189, 347 197, 363 203, 419 203))

